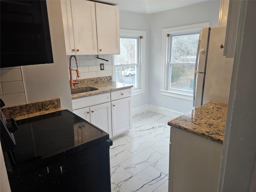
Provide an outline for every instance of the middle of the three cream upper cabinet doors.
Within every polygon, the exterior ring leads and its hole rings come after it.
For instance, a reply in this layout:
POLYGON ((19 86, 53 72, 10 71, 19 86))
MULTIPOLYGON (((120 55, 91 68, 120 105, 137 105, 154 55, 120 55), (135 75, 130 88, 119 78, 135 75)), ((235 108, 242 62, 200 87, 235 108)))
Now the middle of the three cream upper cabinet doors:
POLYGON ((92 1, 71 1, 76 54, 98 53, 95 4, 92 1))

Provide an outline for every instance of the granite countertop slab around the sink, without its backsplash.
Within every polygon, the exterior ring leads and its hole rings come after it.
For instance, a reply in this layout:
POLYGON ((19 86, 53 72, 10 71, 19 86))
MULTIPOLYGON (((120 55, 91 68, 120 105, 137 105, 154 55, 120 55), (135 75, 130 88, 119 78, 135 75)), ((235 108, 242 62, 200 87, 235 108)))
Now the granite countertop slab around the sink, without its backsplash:
POLYGON ((132 85, 129 85, 129 84, 108 81, 108 82, 100 82, 100 83, 87 83, 87 84, 84 84, 84 86, 79 86, 78 88, 72 88, 71 90, 80 89, 80 88, 83 88, 86 86, 95 87, 95 88, 98 88, 98 90, 77 93, 77 94, 71 94, 71 98, 72 99, 82 98, 82 97, 87 97, 87 96, 92 96, 92 95, 97 95, 97 94, 102 94, 102 93, 108 93, 111 91, 128 89, 128 88, 132 87, 132 85))

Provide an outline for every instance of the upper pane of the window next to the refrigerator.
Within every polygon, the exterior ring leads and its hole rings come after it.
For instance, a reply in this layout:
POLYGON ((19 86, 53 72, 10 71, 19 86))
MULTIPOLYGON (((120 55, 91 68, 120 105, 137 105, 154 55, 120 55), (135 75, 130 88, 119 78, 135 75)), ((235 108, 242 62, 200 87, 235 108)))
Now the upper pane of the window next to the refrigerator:
POLYGON ((171 62, 195 63, 199 34, 171 37, 171 62))

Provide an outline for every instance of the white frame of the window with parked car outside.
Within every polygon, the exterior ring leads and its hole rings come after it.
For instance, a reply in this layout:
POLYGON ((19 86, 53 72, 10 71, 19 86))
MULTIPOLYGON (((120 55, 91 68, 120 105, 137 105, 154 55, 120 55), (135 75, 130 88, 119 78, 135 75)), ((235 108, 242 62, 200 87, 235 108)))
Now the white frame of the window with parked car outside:
MULTIPOLYGON (((126 30, 126 29, 120 29, 119 31, 120 37, 122 38, 134 38, 134 37, 140 37, 140 43, 139 43, 139 58, 138 58, 138 88, 132 89, 132 96, 143 94, 145 93, 145 84, 146 84, 146 31, 141 30, 126 30)), ((116 74, 114 70, 114 55, 112 55, 112 63, 113 63, 113 70, 112 70, 112 77, 113 80, 116 80, 116 74)))

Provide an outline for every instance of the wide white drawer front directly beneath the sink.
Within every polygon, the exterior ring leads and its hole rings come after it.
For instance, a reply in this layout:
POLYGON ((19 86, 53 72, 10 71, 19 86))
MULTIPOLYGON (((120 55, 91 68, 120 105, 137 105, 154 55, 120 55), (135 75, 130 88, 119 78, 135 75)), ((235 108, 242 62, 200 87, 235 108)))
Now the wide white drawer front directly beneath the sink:
POLYGON ((93 96, 82 97, 72 100, 73 110, 110 102, 110 93, 103 93, 93 96))

